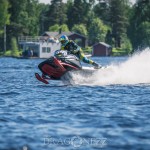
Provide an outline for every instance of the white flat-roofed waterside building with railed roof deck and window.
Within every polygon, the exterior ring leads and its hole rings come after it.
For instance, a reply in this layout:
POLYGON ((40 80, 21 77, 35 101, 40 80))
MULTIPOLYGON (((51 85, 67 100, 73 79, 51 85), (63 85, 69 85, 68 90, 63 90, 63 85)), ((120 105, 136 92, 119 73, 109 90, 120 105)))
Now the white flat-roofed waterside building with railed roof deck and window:
POLYGON ((23 57, 49 58, 54 55, 56 50, 60 49, 58 40, 44 36, 23 36, 19 37, 18 42, 23 49, 23 57))

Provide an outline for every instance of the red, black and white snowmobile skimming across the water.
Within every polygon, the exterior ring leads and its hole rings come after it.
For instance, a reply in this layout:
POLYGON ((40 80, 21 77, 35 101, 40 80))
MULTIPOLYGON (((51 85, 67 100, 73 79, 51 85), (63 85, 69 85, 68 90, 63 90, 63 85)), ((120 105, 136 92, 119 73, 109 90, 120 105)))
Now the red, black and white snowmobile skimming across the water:
POLYGON ((83 69, 79 58, 68 54, 65 50, 55 51, 54 56, 41 62, 38 68, 42 72, 42 76, 35 73, 35 77, 45 84, 49 84, 48 80, 61 80, 68 72, 95 70, 94 68, 83 69))

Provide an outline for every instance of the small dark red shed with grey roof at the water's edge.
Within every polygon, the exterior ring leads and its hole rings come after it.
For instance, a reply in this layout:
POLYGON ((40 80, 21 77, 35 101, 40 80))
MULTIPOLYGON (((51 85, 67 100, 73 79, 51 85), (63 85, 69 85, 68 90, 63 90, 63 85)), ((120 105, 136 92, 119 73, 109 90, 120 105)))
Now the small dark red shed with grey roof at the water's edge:
POLYGON ((93 45, 92 56, 110 56, 112 47, 104 42, 93 45))

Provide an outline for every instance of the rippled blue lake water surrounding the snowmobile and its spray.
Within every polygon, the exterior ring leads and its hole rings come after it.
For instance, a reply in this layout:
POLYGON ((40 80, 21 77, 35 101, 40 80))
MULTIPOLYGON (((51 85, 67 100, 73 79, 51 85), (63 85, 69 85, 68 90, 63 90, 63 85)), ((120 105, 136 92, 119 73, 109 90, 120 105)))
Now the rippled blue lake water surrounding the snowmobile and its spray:
POLYGON ((0 58, 0 150, 150 149, 150 84, 44 85, 41 61, 0 58))

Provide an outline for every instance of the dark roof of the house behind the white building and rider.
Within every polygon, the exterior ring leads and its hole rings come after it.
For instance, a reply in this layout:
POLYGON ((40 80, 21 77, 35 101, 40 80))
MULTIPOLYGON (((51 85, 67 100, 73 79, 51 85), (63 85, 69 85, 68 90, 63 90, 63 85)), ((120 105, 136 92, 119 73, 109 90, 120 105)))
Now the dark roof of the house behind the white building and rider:
POLYGON ((49 32, 49 31, 46 31, 42 34, 42 36, 44 35, 47 35, 47 36, 52 36, 52 37, 56 37, 56 38, 59 38, 61 35, 67 35, 67 36, 71 36, 73 34, 77 34, 79 36, 82 36, 85 38, 85 36, 79 34, 79 33, 75 33, 75 32, 61 32, 61 34, 59 34, 59 32, 49 32))

